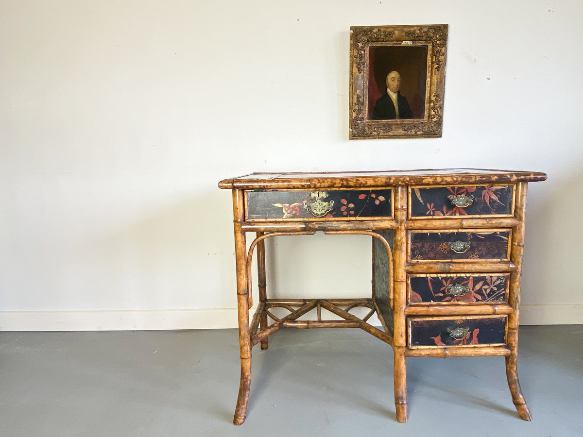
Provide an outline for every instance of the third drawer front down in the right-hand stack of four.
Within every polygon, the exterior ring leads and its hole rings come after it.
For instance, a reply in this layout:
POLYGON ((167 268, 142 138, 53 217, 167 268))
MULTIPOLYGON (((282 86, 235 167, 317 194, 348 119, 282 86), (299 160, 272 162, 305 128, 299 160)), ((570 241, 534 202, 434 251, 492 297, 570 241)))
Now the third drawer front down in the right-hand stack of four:
POLYGON ((407 303, 502 304, 508 302, 510 273, 409 274, 407 303))

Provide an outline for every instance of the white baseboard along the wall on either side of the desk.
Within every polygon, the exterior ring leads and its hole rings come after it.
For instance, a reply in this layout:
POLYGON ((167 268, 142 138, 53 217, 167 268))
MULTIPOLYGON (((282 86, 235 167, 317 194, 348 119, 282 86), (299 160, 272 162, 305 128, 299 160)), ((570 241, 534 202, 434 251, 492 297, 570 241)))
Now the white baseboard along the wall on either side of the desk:
MULTIPOLYGON (((521 325, 581 325, 583 304, 522 305, 521 325)), ((371 318, 372 325, 380 325, 371 318)), ((236 308, 0 311, 0 331, 132 331, 237 327, 236 308)))

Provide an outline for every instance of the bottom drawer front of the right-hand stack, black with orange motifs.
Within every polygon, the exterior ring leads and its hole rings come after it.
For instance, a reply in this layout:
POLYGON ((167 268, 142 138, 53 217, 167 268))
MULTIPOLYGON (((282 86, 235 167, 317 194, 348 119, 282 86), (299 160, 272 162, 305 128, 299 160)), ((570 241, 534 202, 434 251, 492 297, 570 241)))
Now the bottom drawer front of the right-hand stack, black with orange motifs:
POLYGON ((409 347, 502 346, 507 316, 408 317, 409 347))

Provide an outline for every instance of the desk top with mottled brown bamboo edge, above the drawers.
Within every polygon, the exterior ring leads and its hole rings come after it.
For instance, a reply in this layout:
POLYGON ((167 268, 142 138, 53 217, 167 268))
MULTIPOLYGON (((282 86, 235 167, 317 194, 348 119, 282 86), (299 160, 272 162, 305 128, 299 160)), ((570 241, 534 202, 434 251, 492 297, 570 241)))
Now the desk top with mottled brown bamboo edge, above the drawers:
POLYGON ((349 188, 361 186, 491 184, 544 181, 546 174, 532 171, 442 168, 437 170, 390 170, 308 173, 250 173, 223 179, 223 189, 349 188))

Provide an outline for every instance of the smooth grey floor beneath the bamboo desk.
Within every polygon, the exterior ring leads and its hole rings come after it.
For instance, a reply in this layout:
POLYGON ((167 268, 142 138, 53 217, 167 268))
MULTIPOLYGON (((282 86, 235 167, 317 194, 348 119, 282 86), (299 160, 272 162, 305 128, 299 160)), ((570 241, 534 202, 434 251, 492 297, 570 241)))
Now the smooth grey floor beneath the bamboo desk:
POLYGON ((359 329, 282 330, 255 347, 231 424, 236 330, 0 332, 2 436, 582 436, 583 326, 523 326, 518 418, 504 358, 409 358, 395 421, 392 350, 359 329))

